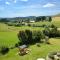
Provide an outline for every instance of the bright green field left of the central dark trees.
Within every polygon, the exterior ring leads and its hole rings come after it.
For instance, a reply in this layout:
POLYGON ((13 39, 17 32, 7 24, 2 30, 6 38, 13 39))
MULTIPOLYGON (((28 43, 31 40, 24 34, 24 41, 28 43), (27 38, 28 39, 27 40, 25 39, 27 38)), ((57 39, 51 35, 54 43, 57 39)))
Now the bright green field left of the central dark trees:
POLYGON ((18 41, 17 32, 0 32, 0 47, 13 47, 18 41))

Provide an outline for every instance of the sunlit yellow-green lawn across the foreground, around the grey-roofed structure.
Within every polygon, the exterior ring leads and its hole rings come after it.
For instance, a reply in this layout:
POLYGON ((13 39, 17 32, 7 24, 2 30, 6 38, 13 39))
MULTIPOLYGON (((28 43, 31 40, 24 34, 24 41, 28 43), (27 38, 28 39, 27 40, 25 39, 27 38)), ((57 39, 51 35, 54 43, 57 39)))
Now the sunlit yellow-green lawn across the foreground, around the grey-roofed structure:
POLYGON ((36 60, 37 58, 43 57, 51 51, 60 51, 60 39, 59 38, 51 38, 50 45, 48 44, 40 44, 40 47, 35 45, 31 45, 29 49, 31 50, 28 54, 24 56, 20 56, 17 53, 19 52, 18 48, 11 49, 8 54, 4 56, 0 56, 1 60, 36 60))

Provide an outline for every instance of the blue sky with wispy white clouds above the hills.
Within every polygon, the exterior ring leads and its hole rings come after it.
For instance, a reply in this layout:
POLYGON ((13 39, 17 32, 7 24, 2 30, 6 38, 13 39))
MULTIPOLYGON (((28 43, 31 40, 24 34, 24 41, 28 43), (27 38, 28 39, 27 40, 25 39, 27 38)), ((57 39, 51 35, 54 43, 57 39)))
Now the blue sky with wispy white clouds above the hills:
POLYGON ((0 0, 0 17, 45 16, 60 13, 60 0, 0 0))

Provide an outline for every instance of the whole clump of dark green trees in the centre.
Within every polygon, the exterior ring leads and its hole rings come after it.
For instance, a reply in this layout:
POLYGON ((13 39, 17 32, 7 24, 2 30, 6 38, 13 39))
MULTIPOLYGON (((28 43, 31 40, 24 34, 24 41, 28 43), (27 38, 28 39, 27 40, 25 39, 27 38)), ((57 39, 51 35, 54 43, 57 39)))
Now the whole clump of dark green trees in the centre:
POLYGON ((18 33, 18 39, 22 44, 32 44, 32 43, 37 43, 41 42, 41 39, 44 38, 44 34, 41 31, 30 31, 30 30, 25 30, 25 31, 19 31, 18 33))

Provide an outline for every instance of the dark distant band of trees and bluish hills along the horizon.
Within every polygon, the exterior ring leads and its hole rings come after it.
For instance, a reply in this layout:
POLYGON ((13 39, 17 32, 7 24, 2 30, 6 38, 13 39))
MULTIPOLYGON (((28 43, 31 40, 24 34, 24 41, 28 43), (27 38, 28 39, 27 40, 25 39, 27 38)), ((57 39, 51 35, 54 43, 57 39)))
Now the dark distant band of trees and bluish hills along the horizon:
POLYGON ((0 22, 29 22, 34 20, 38 21, 52 21, 51 16, 31 16, 31 17, 16 17, 16 18, 0 18, 0 22))

